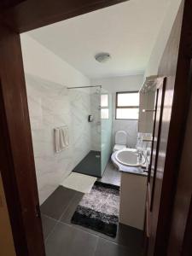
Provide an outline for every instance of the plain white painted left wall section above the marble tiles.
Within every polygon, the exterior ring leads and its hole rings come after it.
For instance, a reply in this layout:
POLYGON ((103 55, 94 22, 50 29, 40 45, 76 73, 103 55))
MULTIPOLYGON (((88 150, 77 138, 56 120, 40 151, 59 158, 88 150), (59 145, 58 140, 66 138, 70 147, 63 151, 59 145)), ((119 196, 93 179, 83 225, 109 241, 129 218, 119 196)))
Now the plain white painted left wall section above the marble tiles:
POLYGON ((89 85, 90 80, 57 55, 30 38, 20 35, 25 73, 65 86, 89 85))

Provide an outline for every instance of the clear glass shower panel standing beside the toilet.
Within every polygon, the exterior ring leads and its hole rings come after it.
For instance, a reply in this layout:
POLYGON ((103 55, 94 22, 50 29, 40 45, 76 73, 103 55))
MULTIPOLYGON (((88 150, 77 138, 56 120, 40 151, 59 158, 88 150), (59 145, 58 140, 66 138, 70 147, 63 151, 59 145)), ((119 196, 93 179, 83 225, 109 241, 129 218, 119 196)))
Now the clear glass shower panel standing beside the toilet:
POLYGON ((112 153, 112 95, 107 90, 101 91, 101 120, 102 120, 102 163, 101 172, 105 171, 112 153))

